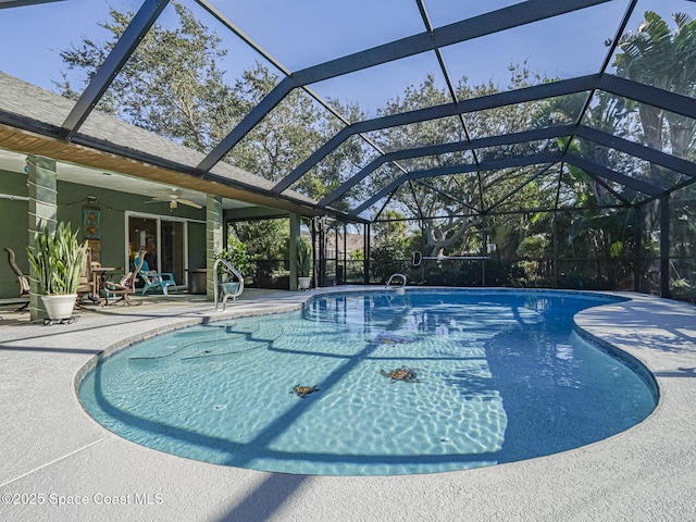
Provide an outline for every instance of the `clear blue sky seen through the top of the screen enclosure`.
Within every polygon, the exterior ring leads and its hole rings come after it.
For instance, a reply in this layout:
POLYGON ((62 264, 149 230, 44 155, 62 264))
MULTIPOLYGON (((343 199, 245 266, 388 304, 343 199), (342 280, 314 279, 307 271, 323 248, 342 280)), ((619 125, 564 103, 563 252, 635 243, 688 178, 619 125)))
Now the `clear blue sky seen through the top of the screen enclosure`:
MULTIPOLYGON (((182 3, 219 36, 228 55, 222 64, 232 83, 258 57, 192 0, 182 3)), ((424 30, 414 0, 213 0, 223 14, 290 71, 378 46, 424 30)), ((425 0, 432 25, 515 3, 512 0, 425 0)), ((548 77, 592 74, 601 65, 605 40, 614 37, 627 0, 558 16, 502 34, 450 46, 443 50, 452 78, 467 76, 470 84, 492 80, 500 88, 509 83, 510 64, 527 61, 532 71, 548 77)), ((64 0, 0 10, 0 70, 40 87, 55 90, 65 67, 59 51, 82 37, 104 40, 98 23, 108 20, 109 7, 136 11, 137 0, 64 0)), ((696 3, 686 0, 641 0, 630 29, 646 10, 663 17, 685 11, 696 18, 696 3), (637 18, 636 18, 637 16, 637 18)), ((169 5, 160 21, 173 20, 169 5)), ((411 84, 427 74, 444 86, 434 52, 411 57, 311 86, 324 98, 358 102, 369 116, 411 84)))

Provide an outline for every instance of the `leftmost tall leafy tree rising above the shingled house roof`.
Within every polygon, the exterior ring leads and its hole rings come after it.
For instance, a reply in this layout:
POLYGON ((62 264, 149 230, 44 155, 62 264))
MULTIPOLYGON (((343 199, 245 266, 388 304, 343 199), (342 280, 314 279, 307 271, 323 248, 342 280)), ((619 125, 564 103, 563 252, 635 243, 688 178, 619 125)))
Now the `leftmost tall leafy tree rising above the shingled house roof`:
MULTIPOLYGON (((154 24, 116 75, 97 104, 97 110, 133 125, 181 142, 210 151, 233 125, 241 120, 240 100, 224 83, 217 62, 227 51, 221 39, 198 22, 191 12, 172 2, 178 27, 154 24)), ((60 55, 69 70, 91 79, 133 18, 133 12, 110 11, 111 20, 99 26, 111 34, 109 41, 83 37, 60 55)), ((78 92, 67 75, 57 87, 69 98, 78 92)))

